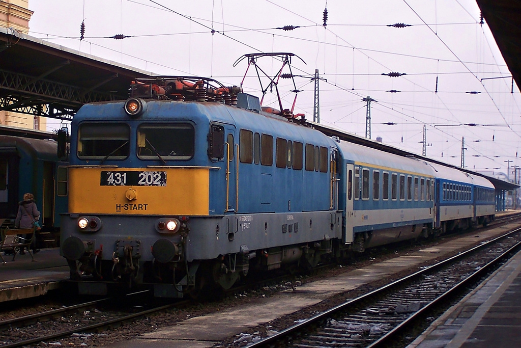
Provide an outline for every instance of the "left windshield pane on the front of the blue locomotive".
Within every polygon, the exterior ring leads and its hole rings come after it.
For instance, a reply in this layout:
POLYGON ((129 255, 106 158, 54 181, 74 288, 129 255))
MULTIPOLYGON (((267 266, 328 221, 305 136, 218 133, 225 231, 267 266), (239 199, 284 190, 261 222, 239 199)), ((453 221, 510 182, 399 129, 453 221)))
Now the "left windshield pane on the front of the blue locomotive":
POLYGON ((126 124, 83 123, 78 129, 78 158, 123 160, 130 154, 129 141, 130 127, 126 124))

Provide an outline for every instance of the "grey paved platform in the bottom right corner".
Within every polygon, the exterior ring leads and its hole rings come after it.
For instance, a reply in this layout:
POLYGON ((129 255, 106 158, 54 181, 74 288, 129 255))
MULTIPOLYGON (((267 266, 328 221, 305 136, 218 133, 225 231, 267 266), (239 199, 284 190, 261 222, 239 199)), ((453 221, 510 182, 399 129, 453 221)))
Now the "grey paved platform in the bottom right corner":
POLYGON ((521 346, 521 251, 407 348, 521 346))

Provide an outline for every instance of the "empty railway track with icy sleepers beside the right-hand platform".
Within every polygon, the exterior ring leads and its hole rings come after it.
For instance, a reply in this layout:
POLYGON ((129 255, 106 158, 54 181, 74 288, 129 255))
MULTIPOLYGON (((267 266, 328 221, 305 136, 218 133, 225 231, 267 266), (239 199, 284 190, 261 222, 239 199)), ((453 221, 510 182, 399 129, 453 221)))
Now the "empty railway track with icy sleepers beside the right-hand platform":
POLYGON ((521 249, 521 228, 346 301, 248 347, 404 346, 437 312, 521 249), (418 323, 422 323, 418 327, 418 323))

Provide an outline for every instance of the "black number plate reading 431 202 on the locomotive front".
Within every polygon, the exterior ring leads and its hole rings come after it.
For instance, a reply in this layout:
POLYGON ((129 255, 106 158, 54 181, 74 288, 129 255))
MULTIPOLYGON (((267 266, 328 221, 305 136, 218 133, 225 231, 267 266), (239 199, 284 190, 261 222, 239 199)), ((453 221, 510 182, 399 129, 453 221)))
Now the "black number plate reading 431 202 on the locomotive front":
POLYGON ((166 186, 166 172, 102 171, 101 186, 166 186))

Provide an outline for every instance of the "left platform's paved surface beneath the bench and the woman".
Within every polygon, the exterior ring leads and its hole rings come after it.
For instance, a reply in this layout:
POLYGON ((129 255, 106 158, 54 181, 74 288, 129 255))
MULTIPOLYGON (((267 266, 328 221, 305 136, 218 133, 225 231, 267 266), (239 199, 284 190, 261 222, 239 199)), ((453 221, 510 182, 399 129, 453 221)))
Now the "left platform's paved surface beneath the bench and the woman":
POLYGON ((4 255, 0 260, 0 302, 45 295, 59 289, 60 282, 69 278, 67 261, 59 255, 58 248, 42 249, 31 255, 4 255))

